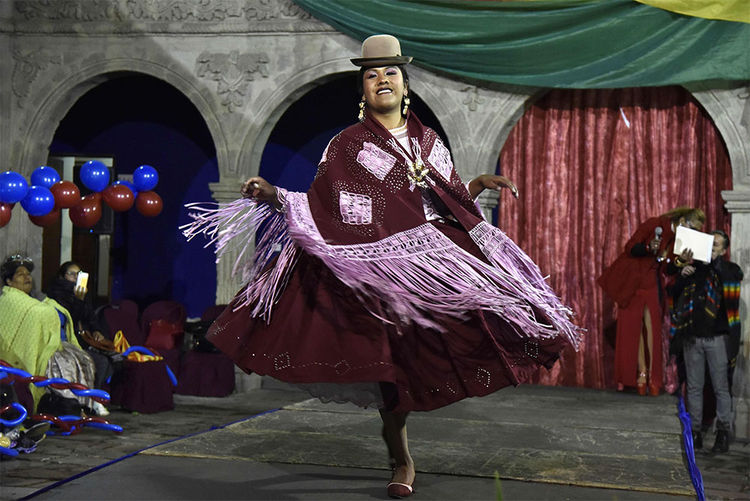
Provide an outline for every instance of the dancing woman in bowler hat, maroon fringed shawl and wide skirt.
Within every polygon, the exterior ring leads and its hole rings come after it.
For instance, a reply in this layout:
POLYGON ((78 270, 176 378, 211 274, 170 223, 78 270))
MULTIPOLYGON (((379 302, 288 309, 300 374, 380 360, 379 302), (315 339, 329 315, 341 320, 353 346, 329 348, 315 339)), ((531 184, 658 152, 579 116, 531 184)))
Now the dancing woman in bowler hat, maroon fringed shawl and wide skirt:
POLYGON ((517 189, 464 184, 437 134, 408 110, 398 40, 362 45, 359 123, 328 144, 307 193, 248 179, 244 198, 186 229, 239 244, 247 285, 209 339, 245 371, 324 401, 380 409, 392 497, 412 493, 410 411, 517 385, 551 367, 579 329, 536 265, 474 200, 517 189))

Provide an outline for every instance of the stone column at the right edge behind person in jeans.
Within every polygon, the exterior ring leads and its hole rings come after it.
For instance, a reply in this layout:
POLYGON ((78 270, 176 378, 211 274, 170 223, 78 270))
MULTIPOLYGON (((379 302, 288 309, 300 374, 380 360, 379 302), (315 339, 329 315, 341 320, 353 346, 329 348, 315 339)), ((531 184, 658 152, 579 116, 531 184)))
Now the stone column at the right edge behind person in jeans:
MULTIPOLYGON (((744 357, 744 374, 735 376, 744 378, 744 391, 735 397, 734 405, 737 409, 735 426, 737 437, 750 438, 750 318, 748 318, 748 305, 750 305, 750 187, 742 187, 734 191, 722 192, 726 200, 726 208, 732 215, 732 240, 730 242, 730 253, 732 261, 740 265, 745 273, 740 292, 740 322, 742 322, 742 345, 738 360, 744 357)), ((736 392, 736 388, 734 390, 736 392)))

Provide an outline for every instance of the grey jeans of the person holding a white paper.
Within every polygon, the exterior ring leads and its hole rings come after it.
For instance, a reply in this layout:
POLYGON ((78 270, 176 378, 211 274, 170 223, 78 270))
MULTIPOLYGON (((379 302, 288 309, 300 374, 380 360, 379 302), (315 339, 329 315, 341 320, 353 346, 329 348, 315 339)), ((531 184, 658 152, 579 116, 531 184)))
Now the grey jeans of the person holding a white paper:
POLYGON ((697 337, 695 342, 685 344, 685 371, 687 372, 688 412, 693 431, 700 431, 703 420, 703 384, 705 364, 711 374, 711 383, 716 394, 717 428, 729 430, 732 414, 732 397, 727 378, 726 336, 697 337))

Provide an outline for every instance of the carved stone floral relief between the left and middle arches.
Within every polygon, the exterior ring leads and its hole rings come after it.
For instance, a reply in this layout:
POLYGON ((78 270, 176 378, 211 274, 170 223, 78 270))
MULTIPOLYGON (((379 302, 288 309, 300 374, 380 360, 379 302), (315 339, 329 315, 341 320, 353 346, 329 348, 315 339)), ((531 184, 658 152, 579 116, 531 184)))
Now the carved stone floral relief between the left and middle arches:
POLYGON ((255 73, 268 78, 268 56, 240 54, 234 50, 229 54, 202 53, 196 61, 196 74, 216 82, 216 93, 222 98, 221 104, 229 113, 245 105, 249 97, 249 84, 255 80, 255 73))

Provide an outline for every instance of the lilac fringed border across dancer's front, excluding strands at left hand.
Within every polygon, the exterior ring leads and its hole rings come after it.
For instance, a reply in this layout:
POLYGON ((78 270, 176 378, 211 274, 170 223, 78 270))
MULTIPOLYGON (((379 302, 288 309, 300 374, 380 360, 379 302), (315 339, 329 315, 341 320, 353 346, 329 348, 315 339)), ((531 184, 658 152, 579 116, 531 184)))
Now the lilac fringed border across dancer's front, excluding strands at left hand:
MULTIPOLYGON (((301 195, 301 196, 300 196, 301 195)), ((360 245, 328 245, 317 231, 307 198, 289 194, 289 233, 306 252, 320 258, 344 284, 365 298, 382 300, 401 321, 442 330, 434 315, 460 318, 463 312, 492 311, 521 336, 560 335, 574 346, 579 329, 547 286, 536 265, 515 244, 508 259, 488 266, 430 224, 360 245), (516 263, 520 267, 516 267, 516 263), (542 312, 549 323, 536 318, 542 312)), ((489 225, 488 225, 489 226, 489 225)), ((504 236, 504 235, 503 235, 504 236)))

